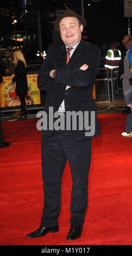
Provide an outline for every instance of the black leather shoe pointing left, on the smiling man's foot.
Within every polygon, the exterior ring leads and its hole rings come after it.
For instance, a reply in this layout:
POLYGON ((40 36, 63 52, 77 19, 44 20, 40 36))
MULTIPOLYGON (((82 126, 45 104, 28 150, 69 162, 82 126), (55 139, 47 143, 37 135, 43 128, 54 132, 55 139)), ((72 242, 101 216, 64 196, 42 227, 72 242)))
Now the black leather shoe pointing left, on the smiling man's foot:
POLYGON ((28 238, 37 238, 37 237, 44 236, 44 235, 48 234, 49 232, 55 233, 58 231, 59 231, 58 226, 52 227, 52 228, 40 227, 39 229, 35 230, 34 232, 27 234, 27 237, 28 238))

